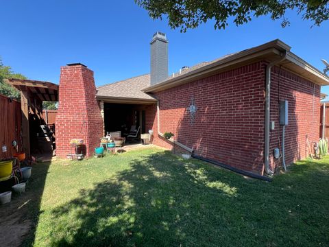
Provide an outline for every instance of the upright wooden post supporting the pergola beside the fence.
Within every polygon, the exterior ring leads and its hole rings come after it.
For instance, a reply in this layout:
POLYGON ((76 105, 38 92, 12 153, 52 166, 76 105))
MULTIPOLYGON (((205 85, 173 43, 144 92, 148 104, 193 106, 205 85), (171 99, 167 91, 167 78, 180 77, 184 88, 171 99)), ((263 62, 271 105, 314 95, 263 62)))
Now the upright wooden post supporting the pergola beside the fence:
POLYGON ((29 93, 21 91, 23 152, 29 157, 29 93))

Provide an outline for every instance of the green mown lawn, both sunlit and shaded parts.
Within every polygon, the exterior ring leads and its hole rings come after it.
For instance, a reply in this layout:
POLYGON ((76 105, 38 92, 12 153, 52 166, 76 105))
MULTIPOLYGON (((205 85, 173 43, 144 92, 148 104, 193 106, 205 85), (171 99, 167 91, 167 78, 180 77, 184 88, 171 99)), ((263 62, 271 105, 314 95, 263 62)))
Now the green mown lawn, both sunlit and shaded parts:
POLYGON ((25 245, 329 246, 328 185, 329 158, 272 183, 155 148, 54 161, 25 245))

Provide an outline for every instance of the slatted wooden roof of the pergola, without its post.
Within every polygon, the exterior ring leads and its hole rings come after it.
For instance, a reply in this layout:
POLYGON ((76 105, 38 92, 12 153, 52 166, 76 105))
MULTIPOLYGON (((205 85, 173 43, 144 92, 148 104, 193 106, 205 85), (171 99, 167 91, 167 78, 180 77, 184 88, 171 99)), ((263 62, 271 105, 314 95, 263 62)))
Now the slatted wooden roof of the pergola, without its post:
POLYGON ((25 79, 6 79, 6 83, 19 91, 27 91, 41 101, 58 101, 58 85, 51 82, 42 82, 25 79))

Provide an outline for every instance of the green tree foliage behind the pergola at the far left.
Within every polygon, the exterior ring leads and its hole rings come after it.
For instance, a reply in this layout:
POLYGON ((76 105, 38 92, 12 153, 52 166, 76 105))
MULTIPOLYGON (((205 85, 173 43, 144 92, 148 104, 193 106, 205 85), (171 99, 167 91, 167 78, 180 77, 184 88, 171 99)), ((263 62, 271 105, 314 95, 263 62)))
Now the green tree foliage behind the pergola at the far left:
POLYGON ((3 79, 16 78, 16 79, 26 79, 26 77, 20 73, 14 73, 10 66, 3 65, 0 58, 0 94, 13 97, 15 99, 21 99, 21 94, 17 89, 6 84, 3 79))

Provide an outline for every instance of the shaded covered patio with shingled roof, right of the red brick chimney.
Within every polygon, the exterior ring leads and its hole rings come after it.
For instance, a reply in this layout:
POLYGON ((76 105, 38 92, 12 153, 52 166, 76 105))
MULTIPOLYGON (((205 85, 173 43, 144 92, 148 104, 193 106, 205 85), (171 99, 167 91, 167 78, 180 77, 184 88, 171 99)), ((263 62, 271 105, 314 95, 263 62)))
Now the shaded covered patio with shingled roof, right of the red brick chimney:
POLYGON ((141 141, 141 134, 148 133, 147 113, 156 99, 137 90, 148 84, 149 75, 141 75, 97 88, 105 134, 128 137, 127 143, 136 143, 141 141), (134 137, 129 138, 130 135, 134 137))

